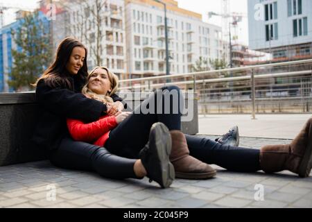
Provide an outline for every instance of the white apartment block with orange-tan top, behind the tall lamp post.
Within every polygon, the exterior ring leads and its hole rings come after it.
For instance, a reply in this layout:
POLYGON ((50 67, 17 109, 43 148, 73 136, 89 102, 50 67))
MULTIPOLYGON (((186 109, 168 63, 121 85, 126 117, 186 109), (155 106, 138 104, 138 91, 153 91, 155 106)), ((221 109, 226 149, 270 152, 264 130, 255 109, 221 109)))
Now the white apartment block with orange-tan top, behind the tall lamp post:
MULTIPOLYGON (((223 58, 221 28, 202 15, 164 0, 168 23, 170 74, 191 72, 200 56, 223 58)), ((164 6, 153 0, 125 1, 127 73, 129 78, 166 74, 164 6)))

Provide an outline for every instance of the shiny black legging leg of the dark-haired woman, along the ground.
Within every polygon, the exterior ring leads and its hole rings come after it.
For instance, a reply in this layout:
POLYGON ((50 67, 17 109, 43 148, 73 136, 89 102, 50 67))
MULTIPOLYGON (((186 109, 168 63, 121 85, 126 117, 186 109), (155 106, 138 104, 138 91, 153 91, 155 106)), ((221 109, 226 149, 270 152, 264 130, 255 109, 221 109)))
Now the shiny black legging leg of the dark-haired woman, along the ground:
POLYGON ((59 148, 50 153, 50 161, 56 167, 80 171, 96 171, 105 178, 137 178, 133 171, 136 160, 131 160, 108 152, 106 148, 62 139, 59 148))

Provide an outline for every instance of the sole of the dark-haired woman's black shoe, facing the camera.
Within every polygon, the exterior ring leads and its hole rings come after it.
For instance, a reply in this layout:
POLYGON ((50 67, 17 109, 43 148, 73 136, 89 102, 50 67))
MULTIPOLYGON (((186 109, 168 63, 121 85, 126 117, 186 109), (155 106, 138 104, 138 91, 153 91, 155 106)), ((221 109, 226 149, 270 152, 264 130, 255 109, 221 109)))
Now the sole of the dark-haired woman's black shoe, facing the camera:
POLYGON ((157 155, 162 169, 162 182, 159 185, 162 188, 170 187, 175 179, 175 169, 169 160, 171 153, 170 133, 162 123, 157 123, 152 128, 155 133, 155 155, 157 155))

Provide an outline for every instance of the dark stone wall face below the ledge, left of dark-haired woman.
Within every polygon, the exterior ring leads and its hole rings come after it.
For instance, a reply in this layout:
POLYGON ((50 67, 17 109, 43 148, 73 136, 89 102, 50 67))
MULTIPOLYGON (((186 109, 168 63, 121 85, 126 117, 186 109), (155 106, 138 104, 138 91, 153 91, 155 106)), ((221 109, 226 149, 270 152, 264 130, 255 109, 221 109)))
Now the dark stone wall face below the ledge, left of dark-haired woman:
POLYGON ((44 148, 31 142, 38 115, 34 103, 0 106, 0 166, 46 159, 44 148))

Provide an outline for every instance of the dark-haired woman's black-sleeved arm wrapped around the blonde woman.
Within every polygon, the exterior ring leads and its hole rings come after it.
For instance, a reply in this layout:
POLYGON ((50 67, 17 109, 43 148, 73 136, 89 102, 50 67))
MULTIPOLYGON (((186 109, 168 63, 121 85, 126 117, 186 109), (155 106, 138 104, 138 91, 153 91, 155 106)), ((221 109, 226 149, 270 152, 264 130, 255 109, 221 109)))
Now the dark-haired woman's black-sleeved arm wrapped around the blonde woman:
POLYGON ((96 121, 107 111, 105 104, 87 99, 83 94, 69 89, 51 88, 40 80, 36 88, 36 99, 46 110, 54 114, 85 122, 96 121))

